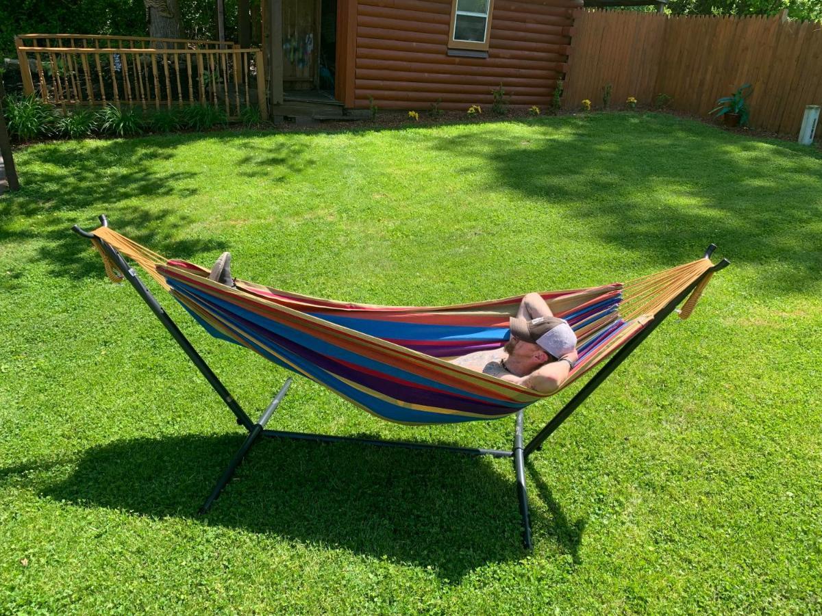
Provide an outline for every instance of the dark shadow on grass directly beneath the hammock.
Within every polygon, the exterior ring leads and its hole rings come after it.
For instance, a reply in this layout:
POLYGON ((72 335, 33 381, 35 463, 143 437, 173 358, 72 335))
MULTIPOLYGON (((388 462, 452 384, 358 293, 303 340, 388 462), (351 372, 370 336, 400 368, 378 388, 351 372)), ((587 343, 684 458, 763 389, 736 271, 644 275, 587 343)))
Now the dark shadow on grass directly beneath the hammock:
MULTIPOLYGON (((241 443, 240 435, 115 441, 88 450, 71 476, 41 495, 196 517, 241 443)), ((510 460, 453 453, 266 439, 196 519, 431 566, 448 581, 524 555, 510 460)), ((550 521, 536 513, 533 524, 542 534, 550 521)), ((566 536, 564 528, 547 533, 566 536)))

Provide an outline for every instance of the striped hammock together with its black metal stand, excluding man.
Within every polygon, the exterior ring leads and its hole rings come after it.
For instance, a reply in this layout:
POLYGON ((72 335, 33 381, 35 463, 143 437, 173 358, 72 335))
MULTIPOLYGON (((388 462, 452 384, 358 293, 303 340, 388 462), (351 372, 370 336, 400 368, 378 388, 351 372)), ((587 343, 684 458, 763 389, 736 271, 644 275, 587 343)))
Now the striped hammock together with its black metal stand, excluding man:
POLYGON ((160 323, 182 347, 225 405, 247 430, 247 438, 201 507, 209 510, 243 457, 260 437, 322 443, 357 443, 379 447, 438 450, 472 456, 510 457, 514 462, 523 541, 533 545, 529 521, 525 460, 639 347, 683 301, 681 317, 694 309, 723 259, 710 262, 716 249, 689 264, 630 283, 573 291, 545 292, 554 314, 566 319, 579 341, 580 361, 566 381, 598 367, 542 430, 524 442, 524 408, 547 394, 511 384, 446 361, 483 348, 501 347, 509 335, 508 319, 521 297, 459 306, 372 306, 330 301, 261 287, 242 280, 230 284, 210 278, 210 271, 180 260, 166 260, 112 229, 73 231, 89 239, 102 255, 109 278, 126 279, 160 323), (145 271, 217 338, 247 347, 298 375, 330 388, 342 398, 388 421, 411 425, 490 420, 515 415, 513 447, 484 449, 450 445, 361 439, 330 434, 268 430, 266 425, 291 384, 252 421, 205 363, 124 256, 145 271), (690 298, 689 298, 690 296, 690 298), (687 301, 686 301, 686 298, 687 301))

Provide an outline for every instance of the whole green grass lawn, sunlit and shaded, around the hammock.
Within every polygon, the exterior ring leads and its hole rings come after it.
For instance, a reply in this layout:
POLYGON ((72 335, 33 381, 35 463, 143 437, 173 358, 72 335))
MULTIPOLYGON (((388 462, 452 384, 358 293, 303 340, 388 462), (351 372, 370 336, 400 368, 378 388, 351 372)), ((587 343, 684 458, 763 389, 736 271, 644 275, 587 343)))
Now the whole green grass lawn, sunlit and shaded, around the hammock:
MULTIPOLYGON (((0 198, 0 613, 822 611, 822 156, 616 113, 37 145, 0 198), (312 295, 446 304, 732 267, 532 457, 257 445, 73 223, 312 295)), ((152 285, 152 288, 157 288, 152 285)), ((287 375, 183 331, 252 416, 287 375)), ((530 407, 535 434, 573 393, 530 407)), ((298 378, 282 430, 408 428, 298 378)))

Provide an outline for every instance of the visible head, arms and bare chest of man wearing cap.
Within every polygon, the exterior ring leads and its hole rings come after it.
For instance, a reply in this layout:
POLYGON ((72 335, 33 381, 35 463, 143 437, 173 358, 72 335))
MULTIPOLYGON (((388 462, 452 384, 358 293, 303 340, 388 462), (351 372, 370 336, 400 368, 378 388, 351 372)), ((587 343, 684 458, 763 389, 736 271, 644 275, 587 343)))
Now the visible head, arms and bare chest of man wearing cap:
POLYGON ((529 293, 510 318, 510 331, 505 347, 451 362, 540 393, 554 393, 577 360, 574 330, 553 315, 538 293, 529 293))

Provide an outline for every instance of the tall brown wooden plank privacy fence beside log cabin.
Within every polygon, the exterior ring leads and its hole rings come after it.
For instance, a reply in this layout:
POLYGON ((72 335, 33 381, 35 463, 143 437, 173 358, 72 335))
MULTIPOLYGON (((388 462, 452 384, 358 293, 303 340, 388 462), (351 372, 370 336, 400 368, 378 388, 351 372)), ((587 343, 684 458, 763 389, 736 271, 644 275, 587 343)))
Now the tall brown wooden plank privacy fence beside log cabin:
POLYGON ((715 101, 750 83, 750 126, 797 134, 806 105, 822 101, 822 24, 764 16, 678 16, 577 11, 563 104, 601 107, 634 96, 704 116, 715 101))

